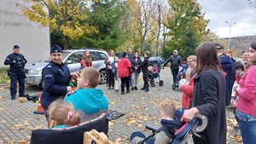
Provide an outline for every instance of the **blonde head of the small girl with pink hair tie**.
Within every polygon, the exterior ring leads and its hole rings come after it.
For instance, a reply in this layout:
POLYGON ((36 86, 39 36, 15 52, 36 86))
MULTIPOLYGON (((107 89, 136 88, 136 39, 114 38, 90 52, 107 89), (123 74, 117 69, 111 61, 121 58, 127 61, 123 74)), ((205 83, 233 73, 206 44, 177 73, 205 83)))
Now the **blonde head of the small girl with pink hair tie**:
POLYGON ((77 125, 80 124, 79 115, 75 112, 73 105, 59 99, 53 101, 48 108, 49 128, 57 125, 77 125))

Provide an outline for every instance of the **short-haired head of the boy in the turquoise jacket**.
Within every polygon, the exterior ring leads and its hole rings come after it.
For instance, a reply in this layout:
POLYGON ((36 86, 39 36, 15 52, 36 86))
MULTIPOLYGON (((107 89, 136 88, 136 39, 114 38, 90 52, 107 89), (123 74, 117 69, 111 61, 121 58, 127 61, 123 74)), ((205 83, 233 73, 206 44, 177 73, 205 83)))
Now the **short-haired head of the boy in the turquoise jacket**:
POLYGON ((79 78, 78 78, 78 88, 79 89, 89 89, 96 88, 100 83, 100 73, 93 67, 83 68, 79 78))

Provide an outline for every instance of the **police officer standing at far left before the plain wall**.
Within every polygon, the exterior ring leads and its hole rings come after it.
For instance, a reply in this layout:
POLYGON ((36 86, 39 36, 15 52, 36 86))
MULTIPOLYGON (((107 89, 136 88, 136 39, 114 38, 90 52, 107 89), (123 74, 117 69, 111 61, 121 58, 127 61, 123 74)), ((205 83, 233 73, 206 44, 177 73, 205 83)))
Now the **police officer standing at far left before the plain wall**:
POLYGON ((26 59, 24 55, 21 55, 20 47, 18 45, 14 46, 14 53, 10 54, 4 60, 4 65, 9 65, 9 78, 10 78, 10 95, 11 100, 15 100, 17 93, 17 81, 19 83, 19 95, 24 97, 25 93, 25 72, 24 66, 26 64, 26 59))

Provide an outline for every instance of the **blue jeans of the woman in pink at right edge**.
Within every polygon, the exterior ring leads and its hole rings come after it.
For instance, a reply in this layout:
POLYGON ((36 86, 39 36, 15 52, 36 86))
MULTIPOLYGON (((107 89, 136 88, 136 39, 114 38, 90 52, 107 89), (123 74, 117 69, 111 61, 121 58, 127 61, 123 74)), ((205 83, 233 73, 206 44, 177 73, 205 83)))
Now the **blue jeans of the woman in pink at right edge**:
POLYGON ((251 144, 256 140, 256 121, 239 121, 239 129, 243 144, 251 144))

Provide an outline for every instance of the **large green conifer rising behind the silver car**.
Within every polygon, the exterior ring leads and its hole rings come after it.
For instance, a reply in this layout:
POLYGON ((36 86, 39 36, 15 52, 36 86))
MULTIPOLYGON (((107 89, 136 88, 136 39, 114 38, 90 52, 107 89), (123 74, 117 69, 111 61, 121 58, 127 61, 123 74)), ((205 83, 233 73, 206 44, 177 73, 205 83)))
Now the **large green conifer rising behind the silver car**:
POLYGON ((86 12, 86 20, 90 26, 94 26, 97 32, 84 32, 79 41, 73 42, 74 47, 90 47, 101 49, 116 49, 125 42, 120 29, 120 21, 123 16, 125 3, 119 0, 93 1, 86 12))

